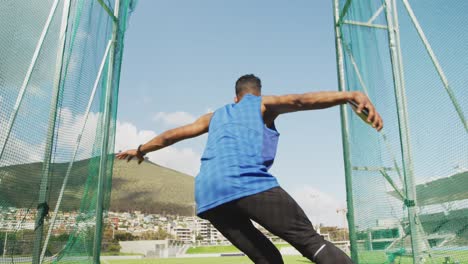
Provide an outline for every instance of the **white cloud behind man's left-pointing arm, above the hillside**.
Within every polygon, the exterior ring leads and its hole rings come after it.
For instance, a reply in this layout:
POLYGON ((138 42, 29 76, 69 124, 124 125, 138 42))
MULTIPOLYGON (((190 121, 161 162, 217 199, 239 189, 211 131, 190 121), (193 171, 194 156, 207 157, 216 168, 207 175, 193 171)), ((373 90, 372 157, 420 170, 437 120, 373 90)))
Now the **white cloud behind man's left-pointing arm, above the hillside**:
MULTIPOLYGON (((131 123, 117 121, 115 151, 134 149, 157 136, 151 130, 138 130, 131 123)), ((195 176, 200 169, 200 154, 191 148, 173 146, 151 152, 148 159, 156 164, 195 176)))

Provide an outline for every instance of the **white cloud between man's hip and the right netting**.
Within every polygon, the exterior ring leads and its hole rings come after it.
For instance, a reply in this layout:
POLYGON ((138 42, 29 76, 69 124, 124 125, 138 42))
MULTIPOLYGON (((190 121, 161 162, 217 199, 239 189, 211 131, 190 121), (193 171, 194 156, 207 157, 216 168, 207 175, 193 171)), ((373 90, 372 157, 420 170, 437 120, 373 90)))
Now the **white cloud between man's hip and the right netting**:
POLYGON ((319 223, 325 226, 347 226, 343 214, 337 213, 337 209, 346 208, 345 203, 333 195, 306 185, 292 190, 291 196, 302 207, 314 226, 319 223))

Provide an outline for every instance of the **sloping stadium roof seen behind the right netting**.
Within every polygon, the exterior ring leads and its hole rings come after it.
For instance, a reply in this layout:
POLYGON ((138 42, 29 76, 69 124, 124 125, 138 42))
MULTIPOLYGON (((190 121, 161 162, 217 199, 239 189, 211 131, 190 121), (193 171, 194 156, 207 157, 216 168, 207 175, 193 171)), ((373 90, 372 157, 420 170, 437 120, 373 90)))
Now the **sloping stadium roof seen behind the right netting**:
MULTIPOLYGON (((396 191, 388 192, 401 200, 396 191)), ((418 206, 468 199, 468 171, 416 185, 418 206)))

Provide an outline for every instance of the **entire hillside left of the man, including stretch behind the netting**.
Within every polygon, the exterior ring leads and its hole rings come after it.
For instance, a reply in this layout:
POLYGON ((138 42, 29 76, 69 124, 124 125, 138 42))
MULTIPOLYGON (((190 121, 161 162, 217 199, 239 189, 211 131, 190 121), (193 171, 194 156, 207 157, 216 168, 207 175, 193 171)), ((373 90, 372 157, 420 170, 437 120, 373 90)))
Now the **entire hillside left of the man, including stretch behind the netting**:
MULTIPOLYGON (((70 175, 61 210, 78 210, 83 193, 93 187, 85 187, 90 172, 89 160, 75 162, 70 175)), ((55 207, 68 164, 52 166, 49 185, 51 210, 55 207)), ((30 163, 0 167, 0 206, 35 208, 39 197, 42 163, 30 163)), ((96 173, 97 174, 97 173, 96 173)), ((164 168, 151 162, 116 160, 112 183, 111 210, 147 213, 193 214, 194 177, 164 168)))

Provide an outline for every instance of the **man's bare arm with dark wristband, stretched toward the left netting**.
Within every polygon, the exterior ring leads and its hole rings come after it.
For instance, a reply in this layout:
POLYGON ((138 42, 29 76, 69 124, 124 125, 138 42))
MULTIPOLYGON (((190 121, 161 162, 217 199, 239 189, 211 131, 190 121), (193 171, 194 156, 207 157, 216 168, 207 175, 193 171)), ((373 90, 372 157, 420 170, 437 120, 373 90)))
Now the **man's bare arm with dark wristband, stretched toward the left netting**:
POLYGON ((129 149, 116 155, 118 159, 127 159, 130 161, 134 157, 138 159, 138 164, 143 162, 144 155, 148 152, 165 148, 184 139, 200 136, 208 132, 211 116, 208 113, 189 125, 167 130, 166 132, 154 137, 150 141, 140 146, 140 149, 129 149))

